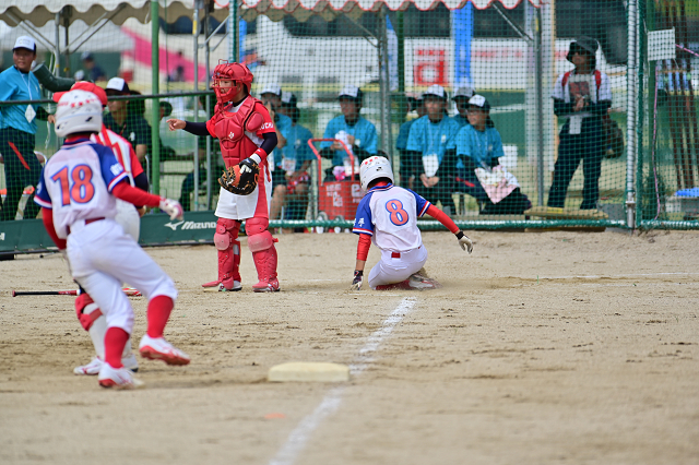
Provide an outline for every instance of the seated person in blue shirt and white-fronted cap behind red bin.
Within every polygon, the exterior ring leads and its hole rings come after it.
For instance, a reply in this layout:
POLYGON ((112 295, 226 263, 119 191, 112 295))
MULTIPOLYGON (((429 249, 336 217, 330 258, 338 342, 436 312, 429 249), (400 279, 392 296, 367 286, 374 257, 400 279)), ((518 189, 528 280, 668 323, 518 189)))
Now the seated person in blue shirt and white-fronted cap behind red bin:
MULTIPOLYGON (((340 100, 340 109, 342 116, 335 117, 328 122, 323 139, 339 139, 345 142, 348 150, 352 151, 352 155, 355 158, 355 178, 359 179, 359 164, 365 158, 377 154, 377 132, 376 127, 363 118, 362 100, 363 92, 355 85, 346 85, 337 96, 340 100)), ((350 166, 350 156, 345 152, 344 147, 339 142, 321 142, 320 155, 324 158, 332 158, 332 168, 325 170, 325 180, 335 180, 337 177, 333 174, 335 167, 345 167, 344 170, 337 169, 341 172, 341 178, 345 176, 351 169, 346 169, 350 166), (346 162, 346 164, 345 164, 346 162)))

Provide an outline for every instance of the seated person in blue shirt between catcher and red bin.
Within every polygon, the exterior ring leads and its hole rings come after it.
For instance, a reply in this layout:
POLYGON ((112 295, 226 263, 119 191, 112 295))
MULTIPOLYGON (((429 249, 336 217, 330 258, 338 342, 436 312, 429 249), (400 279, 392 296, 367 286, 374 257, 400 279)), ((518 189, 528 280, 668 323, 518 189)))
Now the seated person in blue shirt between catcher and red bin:
POLYGON ((286 205, 285 217, 281 219, 304 219, 308 210, 308 192, 310 176, 308 168, 316 157, 308 140, 311 132, 298 124, 300 111, 296 106, 296 96, 288 92, 283 94, 280 112, 292 120, 292 127, 284 132, 286 146, 274 153, 274 170, 272 171, 272 206, 270 219, 277 219, 282 207, 286 205))

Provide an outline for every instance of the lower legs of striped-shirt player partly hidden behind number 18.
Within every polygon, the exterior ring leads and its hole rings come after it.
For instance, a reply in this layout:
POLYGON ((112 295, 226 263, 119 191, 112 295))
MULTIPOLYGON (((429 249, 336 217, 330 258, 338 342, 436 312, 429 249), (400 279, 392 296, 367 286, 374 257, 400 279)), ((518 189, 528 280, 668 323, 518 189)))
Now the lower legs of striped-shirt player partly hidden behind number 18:
MULTIPOLYGON (((97 356, 93 358, 90 363, 75 367, 73 373, 96 375, 105 362, 104 341, 107 333, 107 319, 99 310, 99 307, 97 307, 97 303, 95 303, 86 293, 81 294, 75 299, 75 312, 78 313, 80 324, 90 334, 97 356)), ((121 363, 131 371, 139 371, 139 362, 133 355, 130 337, 123 347, 121 363)))

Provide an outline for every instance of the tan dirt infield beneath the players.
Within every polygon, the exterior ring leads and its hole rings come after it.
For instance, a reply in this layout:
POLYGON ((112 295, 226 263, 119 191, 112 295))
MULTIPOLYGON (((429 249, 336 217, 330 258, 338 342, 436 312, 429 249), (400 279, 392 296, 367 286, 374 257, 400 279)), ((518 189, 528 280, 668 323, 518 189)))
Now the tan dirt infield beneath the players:
MULTIPOLYGON (((470 236, 472 255, 424 234, 443 287, 423 293, 348 291, 353 235, 281 236, 275 295, 250 290, 245 247, 230 294, 200 287, 213 247, 150 249, 180 290, 166 334, 192 363, 140 359, 146 389, 130 392, 72 374, 92 357, 73 298, 10 297, 73 288, 60 257, 0 262, 0 463, 699 461, 699 234, 470 236), (355 375, 265 382, 293 360, 355 375)), ((146 302, 131 301, 138 344, 146 302)))

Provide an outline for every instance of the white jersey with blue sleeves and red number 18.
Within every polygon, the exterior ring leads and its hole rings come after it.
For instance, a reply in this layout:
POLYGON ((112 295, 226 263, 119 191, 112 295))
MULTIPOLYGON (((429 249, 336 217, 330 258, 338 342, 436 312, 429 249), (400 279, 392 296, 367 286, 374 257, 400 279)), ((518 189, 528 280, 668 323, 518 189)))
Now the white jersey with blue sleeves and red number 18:
POLYGON ((35 202, 54 210, 54 226, 61 239, 80 219, 114 218, 117 201, 110 194, 128 175, 111 148, 86 139, 66 142, 42 170, 35 202))

